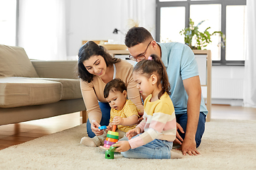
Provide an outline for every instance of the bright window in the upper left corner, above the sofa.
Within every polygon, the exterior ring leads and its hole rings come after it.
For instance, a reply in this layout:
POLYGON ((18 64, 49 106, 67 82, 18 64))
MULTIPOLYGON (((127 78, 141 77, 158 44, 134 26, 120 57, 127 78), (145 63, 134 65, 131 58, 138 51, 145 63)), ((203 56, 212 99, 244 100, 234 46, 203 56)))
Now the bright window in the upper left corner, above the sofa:
POLYGON ((16 0, 0 0, 0 44, 16 45, 16 0))

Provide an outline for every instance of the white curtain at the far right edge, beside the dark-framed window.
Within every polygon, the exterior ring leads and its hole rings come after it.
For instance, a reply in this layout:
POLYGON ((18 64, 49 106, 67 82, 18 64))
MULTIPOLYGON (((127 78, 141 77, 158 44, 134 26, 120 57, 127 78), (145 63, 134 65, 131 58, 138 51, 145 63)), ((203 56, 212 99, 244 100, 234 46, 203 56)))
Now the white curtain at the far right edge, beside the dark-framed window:
POLYGON ((256 1, 247 0, 245 84, 243 103, 256 107, 256 1))

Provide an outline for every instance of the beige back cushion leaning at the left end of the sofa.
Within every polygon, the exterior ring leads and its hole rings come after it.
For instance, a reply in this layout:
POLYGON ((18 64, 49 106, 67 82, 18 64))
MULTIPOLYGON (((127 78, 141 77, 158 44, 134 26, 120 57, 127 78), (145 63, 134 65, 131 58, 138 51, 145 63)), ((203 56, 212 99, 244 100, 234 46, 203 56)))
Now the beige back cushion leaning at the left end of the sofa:
POLYGON ((0 45, 0 77, 38 77, 22 47, 0 45))

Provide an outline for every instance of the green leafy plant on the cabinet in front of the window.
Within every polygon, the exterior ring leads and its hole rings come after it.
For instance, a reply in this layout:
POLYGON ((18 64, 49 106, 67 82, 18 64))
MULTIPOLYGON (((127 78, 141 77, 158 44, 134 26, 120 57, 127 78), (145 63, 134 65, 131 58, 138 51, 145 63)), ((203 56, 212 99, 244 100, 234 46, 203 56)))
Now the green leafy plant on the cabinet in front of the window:
POLYGON ((225 35, 221 31, 214 31, 213 33, 209 33, 208 29, 210 29, 210 27, 206 28, 206 30, 203 32, 198 30, 198 27, 203 22, 205 22, 205 20, 201 21, 197 26, 195 26, 195 23, 191 18, 189 18, 189 27, 186 27, 180 31, 181 35, 185 35, 185 44, 191 47, 192 50, 204 50, 206 46, 212 42, 211 36, 219 34, 222 40, 218 43, 218 45, 225 48, 225 35), (192 45, 193 39, 196 40, 196 45, 192 45))

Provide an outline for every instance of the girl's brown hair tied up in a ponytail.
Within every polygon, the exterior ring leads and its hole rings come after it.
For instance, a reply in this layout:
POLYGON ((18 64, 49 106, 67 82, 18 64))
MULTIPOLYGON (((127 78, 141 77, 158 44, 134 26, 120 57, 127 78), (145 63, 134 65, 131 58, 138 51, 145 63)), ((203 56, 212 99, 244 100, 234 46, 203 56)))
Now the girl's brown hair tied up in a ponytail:
POLYGON ((138 62, 135 65, 133 72, 143 74, 148 79, 151 77, 151 74, 156 74, 156 77, 158 78, 156 85, 159 86, 159 84, 161 84, 161 91, 158 94, 158 98, 160 98, 165 91, 170 95, 171 86, 169 84, 164 63, 157 55, 151 55, 150 57, 152 57, 151 60, 142 60, 141 62, 138 62))

